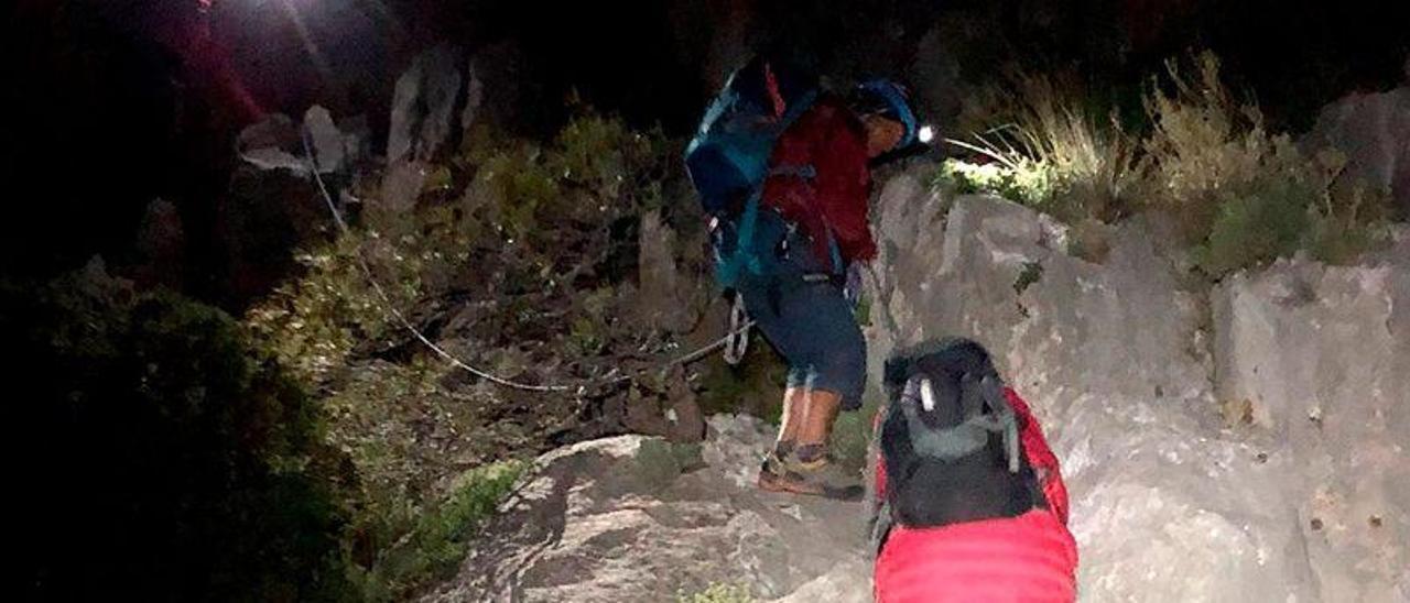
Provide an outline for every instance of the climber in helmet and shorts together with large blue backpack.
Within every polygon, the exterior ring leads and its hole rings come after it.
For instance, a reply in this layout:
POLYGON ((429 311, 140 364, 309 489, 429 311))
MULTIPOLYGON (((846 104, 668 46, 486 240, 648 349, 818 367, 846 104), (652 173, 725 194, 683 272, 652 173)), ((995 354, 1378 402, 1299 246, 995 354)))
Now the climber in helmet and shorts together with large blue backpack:
POLYGON ((869 82, 843 97, 816 82, 756 58, 711 106, 687 166, 712 217, 721 285, 742 296, 790 366, 759 486, 854 499, 860 475, 830 461, 828 440, 839 411, 860 406, 866 379, 849 299, 862 262, 876 255, 869 162, 907 148, 919 128, 895 83, 869 82))

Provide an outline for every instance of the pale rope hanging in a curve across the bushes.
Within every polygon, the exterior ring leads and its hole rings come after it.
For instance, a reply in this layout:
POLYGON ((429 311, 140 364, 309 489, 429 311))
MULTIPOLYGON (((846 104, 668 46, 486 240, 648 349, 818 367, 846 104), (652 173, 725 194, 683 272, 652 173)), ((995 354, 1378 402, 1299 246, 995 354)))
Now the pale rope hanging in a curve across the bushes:
MULTIPOLYGON (((319 186, 319 193, 323 197, 324 204, 329 207, 329 213, 333 214, 333 221, 334 221, 334 224, 337 224, 338 231, 343 232, 344 235, 350 235, 352 232, 352 230, 348 228, 347 221, 343 218, 343 213, 338 211, 337 204, 333 201, 333 194, 329 193, 329 187, 323 182, 323 175, 319 172, 319 163, 317 163, 317 159, 313 155, 313 147, 309 142, 309 138, 310 138, 309 128, 307 127, 299 128, 299 134, 300 134, 299 138, 303 142, 303 155, 305 155, 305 159, 309 163, 309 172, 313 173, 313 182, 317 183, 317 186, 319 186)), ((392 303, 392 297, 386 294, 386 290, 382 289, 382 283, 378 282, 376 276, 372 273, 372 266, 369 266, 367 263, 367 258, 362 256, 362 248, 361 247, 357 249, 355 256, 357 256, 358 268, 362 271, 362 276, 367 279, 368 285, 372 286, 372 290, 376 292, 378 304, 382 306, 384 311, 386 311, 388 314, 393 316, 396 318, 396 323, 400 324, 402 328, 405 328, 407 332, 410 332, 412 337, 415 337, 417 341, 422 342, 422 345, 424 345, 433 354, 436 354, 437 356, 440 356, 446 362, 448 362, 451 366, 458 368, 461 371, 465 371, 465 372, 468 372, 468 373, 471 373, 471 375, 474 375, 477 378, 481 378, 484 380, 488 380, 488 382, 491 382, 494 385, 498 385, 498 386, 502 386, 502 387, 509 387, 509 389, 517 389, 517 390, 523 390, 523 392, 577 392, 578 394, 582 394, 582 393, 587 392, 587 389, 589 386, 611 386, 611 385, 618 385, 618 383, 623 383, 623 382, 629 382, 632 379, 636 379, 637 376, 646 375, 649 372, 649 369, 642 369, 642 371, 637 371, 637 372, 633 372, 633 373, 620 375, 620 376, 613 378, 613 379, 587 380, 587 382, 582 382, 582 383, 578 383, 578 385, 567 385, 567 383, 534 385, 534 383, 523 383, 523 382, 516 382, 516 380, 512 380, 512 379, 505 379, 502 376, 491 373, 489 371, 484 371, 484 369, 475 368, 475 366, 470 365, 468 362, 461 361, 460 358, 455 358, 455 355, 447 352, 444 348, 441 348, 434 341, 431 341, 429 337, 426 337, 419 328, 416 328, 416 325, 413 325, 412 321, 407 320, 406 316, 402 314, 402 311, 396 309, 396 304, 392 303)), ((689 352, 689 354, 681 355, 678 358, 674 358, 671 361, 667 361, 667 362, 658 365, 657 368, 661 369, 661 371, 664 371, 664 369, 668 369, 671 366, 688 365, 691 362, 695 362, 695 361, 701 359, 701 358, 705 358, 706 355, 709 355, 715 349, 719 349, 719 348, 725 347, 732 338, 735 338, 737 335, 742 335, 744 332, 749 332, 749 330, 753 325, 754 325, 753 320, 744 321, 736 330, 725 334, 725 337, 716 340, 715 342, 712 342, 709 345, 705 345, 704 348, 699 348, 699 349, 697 349, 694 352, 689 352)))

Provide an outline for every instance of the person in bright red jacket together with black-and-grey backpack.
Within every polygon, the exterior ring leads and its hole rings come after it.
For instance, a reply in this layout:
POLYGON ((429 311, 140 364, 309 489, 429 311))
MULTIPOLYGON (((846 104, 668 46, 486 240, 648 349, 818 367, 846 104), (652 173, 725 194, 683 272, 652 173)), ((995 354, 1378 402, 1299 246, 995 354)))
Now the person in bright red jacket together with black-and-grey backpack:
POLYGON ((979 344, 894 355, 869 492, 878 603, 1076 597, 1058 458, 979 344))

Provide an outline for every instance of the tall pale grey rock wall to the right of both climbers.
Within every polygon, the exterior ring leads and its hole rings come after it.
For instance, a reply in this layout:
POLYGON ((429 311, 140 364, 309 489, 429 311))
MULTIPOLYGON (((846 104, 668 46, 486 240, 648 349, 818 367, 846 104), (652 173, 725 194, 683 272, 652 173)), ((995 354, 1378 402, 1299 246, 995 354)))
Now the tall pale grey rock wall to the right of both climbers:
POLYGON ((1065 464, 1084 600, 1410 596, 1406 268, 1187 290, 1158 220, 1117 228, 1096 265, 1046 217, 946 203, 922 176, 880 200, 871 363, 948 334, 994 352, 1065 464), (1256 425, 1225 424, 1234 396, 1256 425))

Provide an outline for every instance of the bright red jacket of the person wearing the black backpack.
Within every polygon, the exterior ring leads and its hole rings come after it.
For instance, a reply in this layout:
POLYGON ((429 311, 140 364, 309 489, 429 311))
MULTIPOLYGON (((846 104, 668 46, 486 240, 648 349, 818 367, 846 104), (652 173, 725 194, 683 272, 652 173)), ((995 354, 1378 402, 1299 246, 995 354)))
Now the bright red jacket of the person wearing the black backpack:
MULTIPOLYGON (((874 568, 880 603, 1072 602, 1077 542, 1067 531, 1067 487, 1028 403, 1004 390, 1024 430, 1024 452, 1042 480, 1048 510, 935 528, 895 526, 874 568)), ((877 493, 885 464, 877 464, 877 493)))

